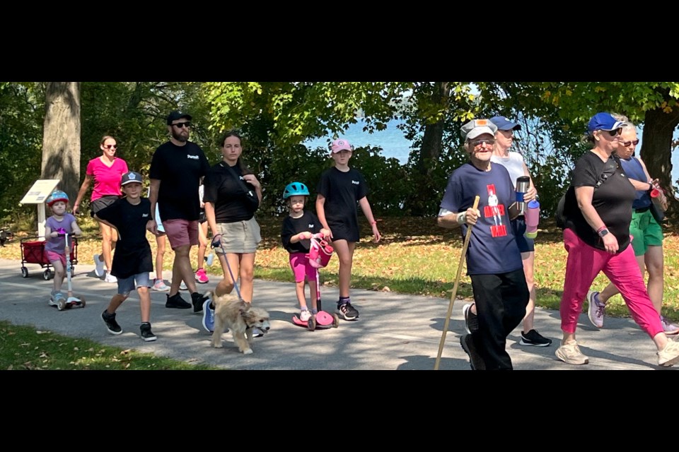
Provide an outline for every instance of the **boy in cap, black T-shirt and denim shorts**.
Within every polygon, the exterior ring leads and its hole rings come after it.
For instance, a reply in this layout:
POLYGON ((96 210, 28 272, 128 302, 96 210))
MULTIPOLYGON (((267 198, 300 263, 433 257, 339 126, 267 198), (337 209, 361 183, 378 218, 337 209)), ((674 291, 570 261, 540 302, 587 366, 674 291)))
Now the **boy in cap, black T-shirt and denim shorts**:
POLYGON ((118 242, 113 255, 111 274, 117 278, 118 292, 111 299, 108 308, 101 313, 108 332, 114 335, 122 333, 122 328, 115 321, 115 311, 120 307, 129 292, 137 283, 139 304, 141 307, 141 338, 146 342, 156 340, 151 332, 151 295, 149 287, 153 285, 149 272, 153 271, 151 246, 146 239, 146 223, 151 218, 151 202, 141 198, 141 174, 130 171, 122 175, 120 189, 125 195, 110 206, 95 213, 95 220, 115 227, 118 231, 118 242))

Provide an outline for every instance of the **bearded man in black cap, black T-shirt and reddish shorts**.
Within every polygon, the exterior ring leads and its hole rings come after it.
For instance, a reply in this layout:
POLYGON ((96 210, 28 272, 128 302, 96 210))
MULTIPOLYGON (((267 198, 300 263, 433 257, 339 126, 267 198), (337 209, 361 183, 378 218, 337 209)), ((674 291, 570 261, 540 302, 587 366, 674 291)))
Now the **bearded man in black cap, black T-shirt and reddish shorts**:
MULTIPOLYGON (((179 293, 184 280, 191 292, 193 311, 203 309, 205 297, 196 290, 195 278, 191 268, 191 246, 198 244, 198 217, 200 201, 198 187, 202 177, 210 169, 207 157, 196 143, 189 141, 191 115, 174 111, 168 115, 170 141, 158 146, 153 153, 149 176, 151 179, 151 215, 156 213, 156 203, 163 219, 163 227, 175 251, 172 268, 172 284, 165 304, 166 308, 188 309, 187 303, 179 293)), ((149 221, 146 229, 158 233, 156 218, 149 221)), ((156 268, 156 274, 162 273, 156 268)))

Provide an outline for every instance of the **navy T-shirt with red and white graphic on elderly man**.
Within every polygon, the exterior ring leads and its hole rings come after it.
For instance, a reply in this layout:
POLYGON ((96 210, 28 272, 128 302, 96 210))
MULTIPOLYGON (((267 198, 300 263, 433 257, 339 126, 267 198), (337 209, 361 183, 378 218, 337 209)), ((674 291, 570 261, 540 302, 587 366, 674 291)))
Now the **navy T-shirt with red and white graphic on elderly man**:
MULTIPOLYGON (((507 169, 491 164, 490 171, 482 171, 465 163, 448 179, 441 208, 464 212, 474 206, 477 195, 481 218, 472 228, 466 256, 467 274, 489 275, 523 268, 521 252, 509 226, 507 208, 516 200, 516 194, 507 169)), ((467 227, 462 226, 463 237, 467 227)))

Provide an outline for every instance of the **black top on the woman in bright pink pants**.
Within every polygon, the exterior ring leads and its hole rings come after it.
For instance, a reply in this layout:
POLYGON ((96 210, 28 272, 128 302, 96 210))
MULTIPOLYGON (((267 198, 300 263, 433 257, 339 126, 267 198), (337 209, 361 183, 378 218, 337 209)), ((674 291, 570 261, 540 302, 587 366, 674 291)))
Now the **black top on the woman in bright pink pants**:
MULTIPOLYGON (((607 162, 593 152, 587 152, 579 158, 573 172, 574 187, 596 186, 601 180, 601 174, 607 165, 615 165, 615 172, 605 179, 592 196, 592 206, 596 209, 603 223, 608 227, 608 232, 615 235, 617 244, 620 246, 618 253, 625 251, 629 245, 629 223, 632 221, 632 202, 637 191, 620 165, 617 165, 613 157, 607 162)), ((605 250, 603 239, 589 225, 578 208, 578 201, 574 189, 569 189, 566 194, 564 211, 567 212, 566 227, 589 246, 605 250)))

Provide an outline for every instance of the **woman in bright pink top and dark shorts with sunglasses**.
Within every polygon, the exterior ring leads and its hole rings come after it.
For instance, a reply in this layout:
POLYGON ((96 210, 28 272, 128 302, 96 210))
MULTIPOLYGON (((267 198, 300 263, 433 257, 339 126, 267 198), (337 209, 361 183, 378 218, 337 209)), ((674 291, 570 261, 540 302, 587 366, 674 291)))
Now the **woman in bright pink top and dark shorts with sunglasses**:
MULTIPOLYGON (((120 192, 120 179, 122 174, 128 171, 127 162, 120 157, 115 156, 117 150, 117 143, 112 136, 104 136, 101 138, 99 148, 102 155, 90 160, 87 164, 85 172, 85 180, 80 187, 76 202, 73 205, 74 215, 79 214, 80 203, 87 193, 91 184, 94 182, 94 189, 90 199, 90 215, 94 216, 98 210, 105 208, 112 204, 115 200, 122 196, 120 192)), ((95 273, 97 276, 104 275, 104 265, 108 268, 106 273, 107 283, 116 283, 115 276, 110 274, 112 264, 112 251, 115 249, 115 242, 117 242, 117 232, 110 226, 99 223, 99 230, 101 231, 102 243, 101 254, 94 255, 95 273)))

